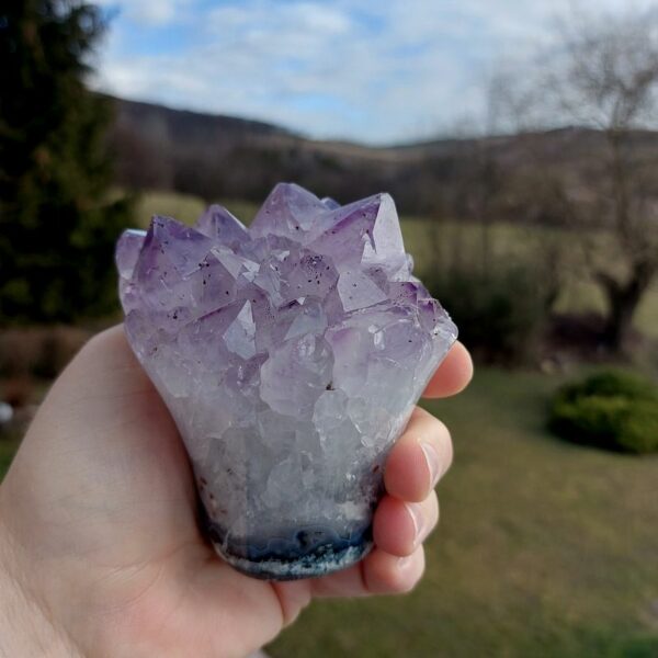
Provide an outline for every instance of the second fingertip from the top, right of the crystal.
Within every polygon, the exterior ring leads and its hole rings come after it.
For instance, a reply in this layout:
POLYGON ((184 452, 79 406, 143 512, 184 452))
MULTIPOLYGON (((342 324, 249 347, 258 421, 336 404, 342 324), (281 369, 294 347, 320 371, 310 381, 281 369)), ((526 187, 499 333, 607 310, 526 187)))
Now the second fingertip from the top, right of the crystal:
POLYGON ((421 502, 449 469, 452 458, 446 427, 424 409, 417 408, 386 461, 386 490, 400 500, 421 502))

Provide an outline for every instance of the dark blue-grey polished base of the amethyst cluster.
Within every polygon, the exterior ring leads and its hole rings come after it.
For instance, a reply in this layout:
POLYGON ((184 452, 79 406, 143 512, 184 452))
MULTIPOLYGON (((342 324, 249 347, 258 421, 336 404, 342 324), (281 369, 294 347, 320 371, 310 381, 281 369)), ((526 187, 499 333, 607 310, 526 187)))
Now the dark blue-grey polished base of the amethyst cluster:
POLYGON ((227 541, 215 523, 208 526, 215 551, 242 574, 263 580, 316 578, 356 564, 373 547, 372 531, 340 537, 327 527, 309 525, 285 533, 286 538, 270 538, 249 544, 227 541))

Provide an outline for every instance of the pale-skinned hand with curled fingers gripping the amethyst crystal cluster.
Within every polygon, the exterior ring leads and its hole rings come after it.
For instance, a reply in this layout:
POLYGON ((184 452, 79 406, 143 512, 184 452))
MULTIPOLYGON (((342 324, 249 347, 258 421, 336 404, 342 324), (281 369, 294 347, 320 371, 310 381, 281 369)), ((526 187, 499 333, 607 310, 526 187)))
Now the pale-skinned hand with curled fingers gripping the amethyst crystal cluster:
MULTIPOLYGON (((457 343, 426 395, 454 395, 472 373, 457 343)), ((313 599, 407 592, 451 461, 446 428, 416 409, 386 464, 374 551, 322 578, 248 578, 200 534, 175 426, 110 329, 55 383, 0 486, 0 656, 245 656, 313 599)))

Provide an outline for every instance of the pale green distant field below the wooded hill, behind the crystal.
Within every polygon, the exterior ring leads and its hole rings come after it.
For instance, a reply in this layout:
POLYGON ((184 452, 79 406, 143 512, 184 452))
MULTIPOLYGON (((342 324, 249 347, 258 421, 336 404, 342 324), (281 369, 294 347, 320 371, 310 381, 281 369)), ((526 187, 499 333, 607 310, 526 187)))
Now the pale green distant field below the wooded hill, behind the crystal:
MULTIPOLYGON (((258 205, 243 201, 225 200, 224 205, 237 217, 249 224, 258 205)), ((185 196, 168 192, 150 192, 141 196, 138 208, 138 222, 148 226, 151 215, 169 215, 192 223, 204 209, 204 203, 195 196, 185 196)), ((423 218, 402 217, 402 234, 407 250, 413 256, 417 272, 422 275, 423 268, 442 253, 462 249, 464 258, 478 254, 481 230, 476 226, 460 226, 456 223, 438 223, 423 218)), ((527 229, 510 225, 495 225, 489 229, 491 259, 506 259, 510 254, 523 253, 529 245, 561 240, 570 241, 554 229, 527 229)), ((570 245, 568 261, 565 265, 569 272, 557 309, 560 311, 589 311, 605 308, 605 299, 600 288, 583 274, 582 259, 576 248, 570 245)), ((646 295, 636 317, 636 325, 646 336, 658 339, 658 285, 646 295)))

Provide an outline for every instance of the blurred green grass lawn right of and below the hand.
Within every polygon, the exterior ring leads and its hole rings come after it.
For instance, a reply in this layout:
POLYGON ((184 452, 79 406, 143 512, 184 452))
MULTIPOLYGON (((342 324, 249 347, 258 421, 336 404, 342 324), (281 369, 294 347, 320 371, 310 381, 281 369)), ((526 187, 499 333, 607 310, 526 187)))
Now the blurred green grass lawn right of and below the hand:
POLYGON ((480 371, 429 404, 456 454, 423 582, 405 598, 314 603, 272 656, 658 656, 658 456, 554 439, 554 386, 480 371))

